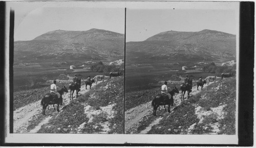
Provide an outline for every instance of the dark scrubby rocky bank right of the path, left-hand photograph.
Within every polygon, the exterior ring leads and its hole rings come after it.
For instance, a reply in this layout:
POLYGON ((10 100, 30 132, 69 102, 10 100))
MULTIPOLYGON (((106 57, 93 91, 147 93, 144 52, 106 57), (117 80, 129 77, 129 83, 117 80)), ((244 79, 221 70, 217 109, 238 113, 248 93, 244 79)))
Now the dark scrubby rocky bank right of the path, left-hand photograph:
POLYGON ((51 117, 47 124, 41 126, 37 133, 106 133, 104 123, 108 122, 109 134, 123 133, 123 77, 114 77, 111 81, 101 82, 88 93, 79 96, 61 112, 51 117), (108 116, 101 109, 112 105, 113 116, 108 116), (88 107, 90 106, 90 107, 88 107), (86 110, 90 108, 94 113, 91 118, 86 110), (92 122, 89 122, 89 120, 92 122))

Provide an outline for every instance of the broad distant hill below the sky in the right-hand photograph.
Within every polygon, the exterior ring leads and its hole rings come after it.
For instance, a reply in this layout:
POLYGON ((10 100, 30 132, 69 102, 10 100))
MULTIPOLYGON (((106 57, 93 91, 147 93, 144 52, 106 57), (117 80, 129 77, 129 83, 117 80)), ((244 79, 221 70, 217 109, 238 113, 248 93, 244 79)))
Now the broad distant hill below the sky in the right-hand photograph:
POLYGON ((127 64, 156 60, 175 62, 235 59, 236 35, 204 29, 200 32, 168 31, 142 42, 126 43, 127 64))

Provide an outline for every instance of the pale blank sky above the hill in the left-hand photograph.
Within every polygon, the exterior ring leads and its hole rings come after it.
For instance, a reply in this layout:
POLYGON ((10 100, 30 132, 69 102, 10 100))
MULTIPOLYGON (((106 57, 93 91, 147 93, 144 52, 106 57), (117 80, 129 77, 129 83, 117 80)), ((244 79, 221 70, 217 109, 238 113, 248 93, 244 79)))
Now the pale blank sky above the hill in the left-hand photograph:
POLYGON ((124 8, 82 8, 75 2, 62 7, 58 4, 12 2, 14 41, 32 40, 57 29, 88 31, 97 28, 124 34, 124 8))

